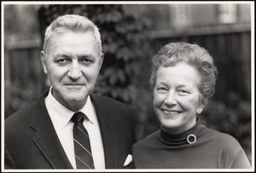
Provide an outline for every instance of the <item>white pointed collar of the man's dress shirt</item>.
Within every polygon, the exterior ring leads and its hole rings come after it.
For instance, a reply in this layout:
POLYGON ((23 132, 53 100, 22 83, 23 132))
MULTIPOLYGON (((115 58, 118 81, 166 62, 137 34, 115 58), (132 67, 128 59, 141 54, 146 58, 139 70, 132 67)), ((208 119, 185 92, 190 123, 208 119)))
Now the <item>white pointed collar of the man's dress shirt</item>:
MULTIPOLYGON (((52 86, 49 89, 49 95, 47 96, 47 102, 48 102, 48 108, 50 109, 50 114, 53 114, 54 116, 51 116, 52 120, 55 124, 57 124, 58 127, 64 128, 73 117, 74 112, 67 109, 66 107, 62 106, 59 101, 55 100, 55 97, 51 94, 52 86)), ((96 117, 94 116, 94 107, 92 102, 90 101, 90 95, 87 98, 86 104, 84 107, 82 107, 81 110, 78 112, 83 112, 85 116, 90 120, 92 124, 95 124, 96 117)))

